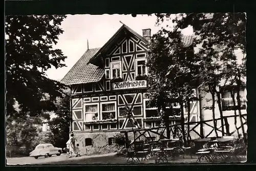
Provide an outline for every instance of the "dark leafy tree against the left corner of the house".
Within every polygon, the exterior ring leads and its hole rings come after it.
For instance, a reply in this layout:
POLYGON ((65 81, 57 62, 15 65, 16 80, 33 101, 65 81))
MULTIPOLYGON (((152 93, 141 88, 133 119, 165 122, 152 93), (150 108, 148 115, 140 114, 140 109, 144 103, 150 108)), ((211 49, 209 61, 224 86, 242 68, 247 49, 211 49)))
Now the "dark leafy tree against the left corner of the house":
MULTIPOLYGON (((62 91, 61 91, 62 92, 62 91)), ((63 98, 57 98, 54 111, 57 117, 49 121, 49 139, 52 144, 58 147, 66 147, 70 132, 70 95, 69 89, 63 91, 63 98)))

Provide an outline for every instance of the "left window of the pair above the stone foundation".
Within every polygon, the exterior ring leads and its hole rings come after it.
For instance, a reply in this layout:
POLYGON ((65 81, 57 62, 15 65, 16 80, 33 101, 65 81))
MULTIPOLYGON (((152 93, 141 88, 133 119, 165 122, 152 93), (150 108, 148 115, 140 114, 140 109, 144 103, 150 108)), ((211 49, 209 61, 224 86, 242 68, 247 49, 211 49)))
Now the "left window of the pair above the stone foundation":
POLYGON ((99 120, 98 117, 98 111, 99 111, 99 106, 98 103, 94 104, 86 104, 84 107, 84 114, 85 114, 85 121, 90 122, 93 120, 99 120))

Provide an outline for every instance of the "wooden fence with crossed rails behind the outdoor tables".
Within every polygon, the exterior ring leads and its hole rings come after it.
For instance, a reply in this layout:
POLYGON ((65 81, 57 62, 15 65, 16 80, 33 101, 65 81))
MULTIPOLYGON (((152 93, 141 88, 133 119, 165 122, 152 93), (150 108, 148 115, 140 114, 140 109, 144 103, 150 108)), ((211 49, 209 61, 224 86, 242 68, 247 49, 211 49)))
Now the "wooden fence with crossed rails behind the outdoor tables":
MULTIPOLYGON (((242 125, 247 125, 247 118, 246 118, 247 114, 242 114, 242 125)), ((234 129, 232 132, 230 132, 230 124, 228 123, 228 118, 234 118, 235 116, 224 116, 224 136, 231 136, 234 133, 236 133, 236 129, 234 129)), ((238 116, 237 116, 238 117, 238 116)), ((216 122, 220 122, 221 118, 217 118, 216 122)), ((198 135, 198 137, 200 138, 207 138, 211 135, 211 133, 214 132, 214 126, 211 125, 211 123, 213 123, 213 120, 203 120, 203 121, 198 121, 198 122, 190 122, 190 131, 189 131, 189 140, 192 140, 193 138, 191 138, 191 134, 196 133, 198 135), (198 130, 200 130, 200 125, 203 126, 203 130, 206 129, 211 129, 211 131, 206 135, 202 135, 198 132, 198 130)), ((238 119, 238 123, 240 123, 240 120, 238 119)), ((184 123, 185 125, 185 129, 187 129, 187 123, 184 123)), ((242 125, 240 125, 238 127, 238 130, 241 129, 242 125)), ((220 132, 222 134, 222 126, 217 127, 217 132, 220 132)), ((187 130, 185 130, 185 132, 187 133, 187 130)), ((165 126, 159 126, 159 127, 152 127, 150 129, 134 129, 134 130, 127 130, 127 131, 121 131, 121 133, 124 133, 125 135, 125 145, 126 146, 130 146, 131 144, 133 144, 134 141, 140 141, 141 139, 152 139, 153 137, 158 137, 156 138, 156 140, 159 140, 160 138, 167 138, 166 137, 166 127, 165 126), (128 133, 133 133, 134 134, 134 138, 133 140, 129 141, 128 138, 128 133), (137 135, 137 136, 136 136, 137 135)), ((181 132, 181 124, 172 124, 170 125, 170 135, 173 136, 173 138, 180 138, 180 136, 182 135, 181 132)), ((221 135, 222 136, 222 135, 221 135)))

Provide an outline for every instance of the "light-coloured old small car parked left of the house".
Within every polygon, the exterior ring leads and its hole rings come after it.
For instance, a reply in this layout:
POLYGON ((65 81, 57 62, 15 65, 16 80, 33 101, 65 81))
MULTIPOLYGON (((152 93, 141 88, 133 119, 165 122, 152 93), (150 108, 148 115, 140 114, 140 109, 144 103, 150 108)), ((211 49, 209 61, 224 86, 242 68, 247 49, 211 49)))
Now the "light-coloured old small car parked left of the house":
POLYGON ((52 144, 38 144, 35 149, 30 152, 29 156, 38 159, 40 156, 51 157, 52 155, 59 156, 62 152, 61 148, 54 147, 52 144))

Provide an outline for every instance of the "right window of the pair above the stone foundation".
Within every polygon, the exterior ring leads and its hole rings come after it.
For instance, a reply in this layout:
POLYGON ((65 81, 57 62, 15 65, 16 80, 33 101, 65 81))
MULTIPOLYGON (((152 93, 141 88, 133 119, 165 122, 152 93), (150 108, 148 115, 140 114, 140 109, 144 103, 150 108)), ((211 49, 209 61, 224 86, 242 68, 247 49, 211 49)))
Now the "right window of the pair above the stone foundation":
POLYGON ((101 110, 102 120, 116 118, 116 102, 101 103, 101 110))

